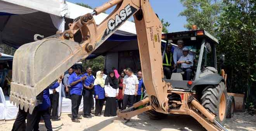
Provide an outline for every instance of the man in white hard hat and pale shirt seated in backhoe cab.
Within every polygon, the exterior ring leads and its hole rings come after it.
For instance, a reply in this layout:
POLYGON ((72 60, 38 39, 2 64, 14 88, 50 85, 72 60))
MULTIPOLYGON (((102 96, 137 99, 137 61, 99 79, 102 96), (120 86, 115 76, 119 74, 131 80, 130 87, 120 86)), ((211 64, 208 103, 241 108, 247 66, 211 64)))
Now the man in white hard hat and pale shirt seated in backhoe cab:
POLYGON ((193 55, 189 54, 189 49, 183 47, 183 55, 177 61, 177 64, 181 64, 182 70, 185 71, 185 81, 190 80, 190 74, 192 72, 191 67, 193 66, 193 55))

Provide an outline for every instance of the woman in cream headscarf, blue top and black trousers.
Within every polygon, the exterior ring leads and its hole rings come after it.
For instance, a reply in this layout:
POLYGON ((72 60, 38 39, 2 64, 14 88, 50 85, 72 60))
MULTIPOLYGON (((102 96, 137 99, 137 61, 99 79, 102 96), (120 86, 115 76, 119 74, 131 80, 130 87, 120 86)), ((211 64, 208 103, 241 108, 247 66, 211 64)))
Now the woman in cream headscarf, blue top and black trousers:
POLYGON ((96 79, 94 80, 94 95, 95 95, 95 116, 100 116, 105 99, 104 85, 105 80, 102 78, 103 72, 97 71, 96 79))

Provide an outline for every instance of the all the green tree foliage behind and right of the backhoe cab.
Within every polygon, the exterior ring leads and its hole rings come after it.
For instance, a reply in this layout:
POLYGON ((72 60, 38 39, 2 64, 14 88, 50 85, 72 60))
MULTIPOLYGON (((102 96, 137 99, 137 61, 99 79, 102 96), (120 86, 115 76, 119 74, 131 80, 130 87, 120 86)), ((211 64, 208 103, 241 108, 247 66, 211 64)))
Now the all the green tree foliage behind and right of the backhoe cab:
POLYGON ((217 58, 225 55, 228 91, 245 92, 248 101, 256 102, 256 0, 180 1, 187 29, 195 24, 219 39, 217 58))

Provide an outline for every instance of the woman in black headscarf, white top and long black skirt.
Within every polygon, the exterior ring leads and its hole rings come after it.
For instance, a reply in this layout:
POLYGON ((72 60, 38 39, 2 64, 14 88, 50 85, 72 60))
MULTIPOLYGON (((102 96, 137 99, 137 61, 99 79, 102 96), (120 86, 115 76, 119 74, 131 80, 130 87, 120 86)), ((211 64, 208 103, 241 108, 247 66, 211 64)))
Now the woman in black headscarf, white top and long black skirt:
POLYGON ((118 96, 118 81, 114 71, 109 72, 105 81, 106 106, 104 116, 116 116, 116 97, 118 96))

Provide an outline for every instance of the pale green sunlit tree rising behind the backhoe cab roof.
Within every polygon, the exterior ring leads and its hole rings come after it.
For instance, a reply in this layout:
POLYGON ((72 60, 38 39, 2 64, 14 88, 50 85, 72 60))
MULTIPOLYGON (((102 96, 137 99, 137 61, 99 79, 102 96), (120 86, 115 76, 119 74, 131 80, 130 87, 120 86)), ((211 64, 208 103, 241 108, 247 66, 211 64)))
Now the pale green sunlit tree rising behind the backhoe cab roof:
POLYGON ((199 29, 207 30, 216 35, 215 26, 221 12, 221 2, 218 0, 180 0, 185 10, 180 12, 180 16, 187 18, 185 28, 191 30, 192 25, 197 25, 199 29))

